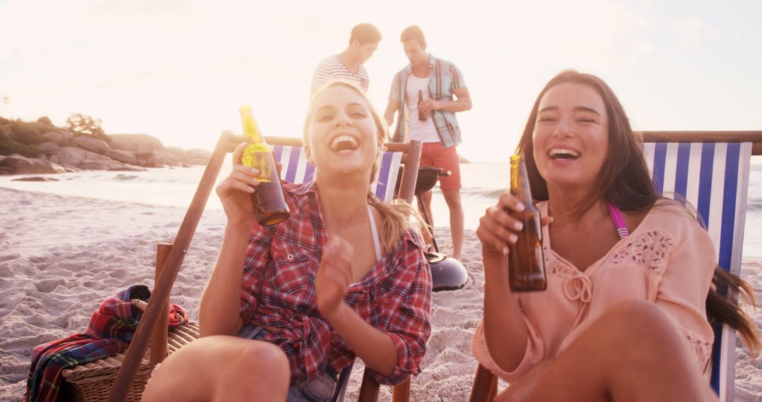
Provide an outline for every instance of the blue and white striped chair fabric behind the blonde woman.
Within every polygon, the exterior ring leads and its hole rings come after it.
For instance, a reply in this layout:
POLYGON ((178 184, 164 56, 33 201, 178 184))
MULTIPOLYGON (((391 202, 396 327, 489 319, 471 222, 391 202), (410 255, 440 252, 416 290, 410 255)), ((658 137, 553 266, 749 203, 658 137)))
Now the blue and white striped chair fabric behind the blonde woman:
MULTIPOLYGON (((283 165, 280 178, 289 183, 304 183, 315 177, 315 166, 307 161, 304 148, 290 145, 274 145, 275 160, 283 165)), ((370 190, 381 201, 391 201, 399 175, 402 152, 384 152, 381 157, 378 179, 370 190)))

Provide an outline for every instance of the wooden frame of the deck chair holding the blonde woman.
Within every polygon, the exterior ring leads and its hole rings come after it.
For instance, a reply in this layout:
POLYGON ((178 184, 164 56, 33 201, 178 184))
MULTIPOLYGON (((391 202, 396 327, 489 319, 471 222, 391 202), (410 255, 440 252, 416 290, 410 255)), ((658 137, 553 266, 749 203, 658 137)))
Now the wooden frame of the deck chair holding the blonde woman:
MULTIPOLYGON (((216 177, 222 168, 225 155, 235 151, 235 148, 244 142, 243 136, 235 136, 232 132, 224 131, 216 143, 214 151, 207 162, 207 168, 194 194, 191 206, 188 207, 183 222, 178 229, 178 235, 172 244, 158 244, 156 251, 156 277, 155 286, 149 300, 146 311, 143 313, 135 335, 125 353, 125 359, 117 374, 117 379, 108 395, 109 402, 123 402, 127 390, 132 384, 140 362, 145 356, 149 340, 152 344, 150 353, 150 365, 154 367, 162 362, 167 356, 168 329, 166 325, 157 325, 166 322, 168 317, 169 295, 180 272, 187 249, 191 244, 198 222, 201 219, 204 206, 207 204, 212 193, 216 177)), ((302 139, 290 137, 267 137, 270 145, 302 146, 302 139)), ((399 199, 405 199, 412 204, 415 193, 415 182, 418 176, 418 164, 421 160, 421 142, 411 141, 408 144, 387 143, 386 151, 405 152, 402 163, 405 169, 402 173, 402 183, 399 190, 399 199)), ((375 401, 378 398, 379 384, 367 372, 363 375, 363 384, 360 389, 360 400, 375 401)), ((395 386, 393 400, 395 402, 406 401, 410 394, 410 380, 395 386), (399 389, 398 389, 399 388, 399 389)))

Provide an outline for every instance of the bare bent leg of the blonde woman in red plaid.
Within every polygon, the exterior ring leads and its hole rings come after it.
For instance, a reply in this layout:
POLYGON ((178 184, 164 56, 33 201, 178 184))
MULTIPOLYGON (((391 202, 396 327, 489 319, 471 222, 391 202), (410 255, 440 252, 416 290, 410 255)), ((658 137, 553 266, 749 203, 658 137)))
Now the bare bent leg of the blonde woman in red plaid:
POLYGON ((288 359, 271 343, 203 337, 172 353, 143 392, 144 402, 286 400, 288 359))

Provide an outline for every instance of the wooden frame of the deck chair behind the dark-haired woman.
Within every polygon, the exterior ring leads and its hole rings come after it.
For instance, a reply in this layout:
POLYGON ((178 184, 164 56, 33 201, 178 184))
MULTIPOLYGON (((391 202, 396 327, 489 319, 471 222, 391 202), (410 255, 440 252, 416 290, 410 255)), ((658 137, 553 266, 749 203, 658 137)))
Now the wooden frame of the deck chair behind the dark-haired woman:
MULTIPOLYGON (((642 131, 642 142, 751 142, 751 155, 762 155, 762 131, 642 131)), ((469 402, 492 400, 498 394, 498 377, 479 365, 469 402)))

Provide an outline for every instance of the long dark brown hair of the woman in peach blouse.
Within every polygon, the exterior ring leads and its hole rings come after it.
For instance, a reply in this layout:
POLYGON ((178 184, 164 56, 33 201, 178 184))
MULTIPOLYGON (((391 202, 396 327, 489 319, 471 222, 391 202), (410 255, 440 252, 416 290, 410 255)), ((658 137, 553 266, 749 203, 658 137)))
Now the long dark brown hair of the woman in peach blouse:
MULTIPOLYGON (((588 194, 588 202, 581 206, 588 209, 599 199, 606 199, 617 208, 627 212, 646 212, 660 199, 666 199, 656 192, 648 166, 643 158, 639 139, 632 132, 627 114, 611 88, 600 78, 591 74, 566 70, 553 77, 537 96, 527 126, 524 127, 517 152, 524 155, 527 164, 532 195, 537 201, 548 199, 548 187, 539 174, 533 156, 533 132, 539 109, 539 102, 546 92, 556 85, 575 83, 593 88, 603 98, 609 120, 609 149, 603 167, 600 169, 594 187, 588 194)), ((671 201, 674 202, 674 201, 671 201)), ((690 206, 688 206, 689 212, 690 206)), ((693 215, 693 213, 692 213, 693 215)), ((754 322, 738 307, 738 295, 748 305, 757 305, 754 289, 743 279, 727 273, 715 266, 712 287, 706 297, 706 316, 711 324, 728 324, 744 339, 751 356, 760 351, 760 333, 754 322)))

